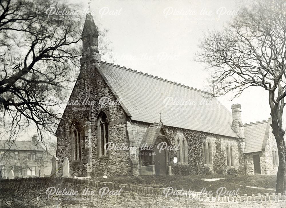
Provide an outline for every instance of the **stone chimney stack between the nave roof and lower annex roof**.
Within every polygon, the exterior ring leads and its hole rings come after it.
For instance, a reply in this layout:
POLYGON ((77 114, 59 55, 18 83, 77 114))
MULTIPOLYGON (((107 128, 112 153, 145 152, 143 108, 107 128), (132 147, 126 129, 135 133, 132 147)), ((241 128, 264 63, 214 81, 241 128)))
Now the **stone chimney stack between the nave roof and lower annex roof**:
POLYGON ((233 104, 231 105, 231 110, 233 114, 233 122, 231 128, 239 138, 244 138, 244 127, 241 121, 241 105, 233 104))

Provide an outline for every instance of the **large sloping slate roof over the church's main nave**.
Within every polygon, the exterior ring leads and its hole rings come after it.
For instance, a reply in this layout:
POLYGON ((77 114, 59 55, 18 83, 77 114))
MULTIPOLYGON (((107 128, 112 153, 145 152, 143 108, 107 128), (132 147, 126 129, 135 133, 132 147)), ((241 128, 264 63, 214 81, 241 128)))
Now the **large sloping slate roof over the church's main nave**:
POLYGON ((159 120, 161 112, 165 126, 238 137, 231 129, 231 112, 206 92, 105 62, 101 62, 100 72, 132 120, 152 124, 159 120), (212 105, 200 105, 202 100, 211 98, 212 105), (186 105, 166 105, 168 99, 186 105), (195 104, 187 105, 189 101, 195 104))

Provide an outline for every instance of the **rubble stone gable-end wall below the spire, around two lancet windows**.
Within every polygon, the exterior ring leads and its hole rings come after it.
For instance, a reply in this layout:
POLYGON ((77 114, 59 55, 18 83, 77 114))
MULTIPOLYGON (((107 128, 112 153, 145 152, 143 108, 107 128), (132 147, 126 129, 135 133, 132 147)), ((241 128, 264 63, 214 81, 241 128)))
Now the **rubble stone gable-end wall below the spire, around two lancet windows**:
MULTIPOLYGON (((86 96, 89 96, 87 88, 90 88, 91 101, 95 104, 90 106, 91 108, 91 139, 85 138, 82 139, 81 148, 82 148, 82 158, 84 154, 84 148, 91 145, 92 147, 92 174, 93 176, 102 176, 103 173, 108 173, 109 175, 122 174, 127 175, 128 173, 128 151, 120 152, 118 155, 114 155, 114 151, 110 150, 108 158, 98 159, 97 152, 97 119, 101 110, 104 110, 108 114, 110 128, 109 128, 109 141, 117 144, 127 144, 126 137, 126 115, 122 110, 121 106, 118 105, 103 105, 100 102, 101 99, 107 99, 110 101, 115 101, 116 98, 113 96, 112 92, 100 76, 99 72, 96 69, 92 71, 93 76, 86 76, 90 78, 90 86, 87 86, 86 83, 89 81, 83 79, 80 76, 74 90, 70 96, 71 100, 78 100, 79 103, 82 103, 86 96)), ((86 132, 84 128, 84 123, 87 121, 86 112, 84 106, 67 106, 63 114, 62 120, 60 122, 58 131, 57 131, 57 157, 59 168, 63 165, 63 159, 67 157, 70 164, 70 175, 78 173, 78 175, 83 175, 86 173, 86 165, 82 164, 82 161, 73 163, 72 161, 72 152, 71 152, 71 137, 70 137, 70 126, 73 120, 77 120, 82 125, 82 132, 86 132)), ((59 169, 59 174, 62 175, 62 169, 59 169)))

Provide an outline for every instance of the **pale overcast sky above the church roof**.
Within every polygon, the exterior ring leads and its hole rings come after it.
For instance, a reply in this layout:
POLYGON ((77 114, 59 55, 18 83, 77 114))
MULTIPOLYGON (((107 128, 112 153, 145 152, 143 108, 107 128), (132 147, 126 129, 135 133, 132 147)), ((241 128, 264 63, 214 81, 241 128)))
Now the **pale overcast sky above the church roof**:
MULTIPOLYGON (((80 13, 88 10, 88 0, 65 2, 79 3, 80 13)), ((114 60, 102 57, 103 61, 207 90, 209 73, 194 61, 199 40, 208 29, 223 29, 242 4, 234 0, 92 0, 90 12, 100 30, 108 30, 106 38, 112 42, 114 60)), ((266 90, 249 88, 231 101, 232 96, 219 99, 230 111, 231 104, 240 103, 243 123, 270 117, 266 90)))

